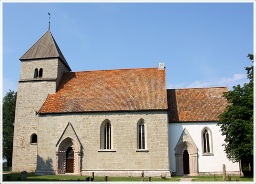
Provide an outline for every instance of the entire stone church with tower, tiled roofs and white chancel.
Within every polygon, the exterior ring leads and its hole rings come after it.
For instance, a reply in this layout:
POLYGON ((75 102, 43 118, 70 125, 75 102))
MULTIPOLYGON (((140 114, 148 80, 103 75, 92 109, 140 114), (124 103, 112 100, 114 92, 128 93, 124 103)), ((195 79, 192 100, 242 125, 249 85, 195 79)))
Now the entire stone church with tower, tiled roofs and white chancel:
POLYGON ((20 58, 12 172, 239 175, 217 116, 227 87, 166 89, 165 67, 71 72, 48 30, 20 58))

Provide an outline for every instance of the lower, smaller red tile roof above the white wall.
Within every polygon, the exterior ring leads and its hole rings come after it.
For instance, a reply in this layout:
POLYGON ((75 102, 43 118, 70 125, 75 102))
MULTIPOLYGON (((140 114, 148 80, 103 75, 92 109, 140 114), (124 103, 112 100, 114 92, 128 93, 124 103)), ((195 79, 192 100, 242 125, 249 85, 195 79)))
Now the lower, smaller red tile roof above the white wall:
POLYGON ((225 91, 227 87, 167 89, 169 122, 217 121, 227 106, 225 91))

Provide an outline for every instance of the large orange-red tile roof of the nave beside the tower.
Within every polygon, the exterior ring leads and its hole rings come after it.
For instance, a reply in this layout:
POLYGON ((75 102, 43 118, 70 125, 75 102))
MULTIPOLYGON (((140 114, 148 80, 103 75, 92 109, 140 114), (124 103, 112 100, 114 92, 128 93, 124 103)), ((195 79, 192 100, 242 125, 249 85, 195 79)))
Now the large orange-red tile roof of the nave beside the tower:
POLYGON ((38 113, 167 110, 165 70, 64 73, 38 113))

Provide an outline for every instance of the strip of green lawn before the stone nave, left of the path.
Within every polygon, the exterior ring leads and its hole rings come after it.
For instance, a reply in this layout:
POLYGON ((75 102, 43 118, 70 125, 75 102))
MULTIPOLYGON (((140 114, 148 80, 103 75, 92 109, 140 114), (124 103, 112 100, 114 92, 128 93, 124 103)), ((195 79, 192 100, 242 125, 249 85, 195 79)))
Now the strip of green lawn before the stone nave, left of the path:
MULTIPOLYGON (((6 181, 6 175, 11 176, 11 181, 19 181, 21 173, 11 173, 11 174, 4 174, 3 180, 6 181)), ((27 181, 76 181, 78 178, 80 181, 85 181, 85 175, 35 175, 34 173, 27 174, 27 181)), ((180 181, 181 177, 172 177, 172 178, 151 178, 151 181, 180 181)), ((94 181, 104 181, 104 177, 95 177, 94 181)), ((108 177, 108 181, 141 181, 140 177, 108 177)), ((144 181, 148 181, 148 178, 145 177, 144 181)))

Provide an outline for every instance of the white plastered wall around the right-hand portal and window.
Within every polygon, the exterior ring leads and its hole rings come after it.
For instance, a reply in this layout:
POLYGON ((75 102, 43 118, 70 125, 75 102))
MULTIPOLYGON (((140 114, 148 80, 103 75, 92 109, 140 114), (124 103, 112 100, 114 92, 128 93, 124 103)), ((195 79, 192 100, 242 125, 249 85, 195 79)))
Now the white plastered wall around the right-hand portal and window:
POLYGON ((239 172, 239 164, 232 163, 226 157, 222 146, 225 143, 224 137, 221 135, 220 127, 215 122, 169 123, 169 161, 172 172, 176 172, 174 148, 185 128, 198 148, 199 172, 222 172, 222 164, 226 164, 227 172, 239 172), (202 155, 201 132, 204 127, 208 127, 212 131, 213 155, 202 155))

